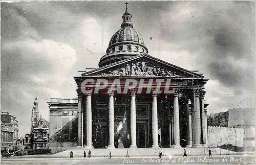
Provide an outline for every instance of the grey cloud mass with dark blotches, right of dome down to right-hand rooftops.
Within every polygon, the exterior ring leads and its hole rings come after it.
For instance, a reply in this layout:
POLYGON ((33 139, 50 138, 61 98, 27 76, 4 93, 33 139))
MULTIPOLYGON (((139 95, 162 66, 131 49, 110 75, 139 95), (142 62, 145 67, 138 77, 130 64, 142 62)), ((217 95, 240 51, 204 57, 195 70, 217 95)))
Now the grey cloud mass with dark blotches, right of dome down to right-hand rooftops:
POLYGON ((170 9, 162 11, 158 38, 183 48, 194 61, 190 64, 210 79, 205 85, 208 108, 254 107, 254 2, 181 2, 170 9))

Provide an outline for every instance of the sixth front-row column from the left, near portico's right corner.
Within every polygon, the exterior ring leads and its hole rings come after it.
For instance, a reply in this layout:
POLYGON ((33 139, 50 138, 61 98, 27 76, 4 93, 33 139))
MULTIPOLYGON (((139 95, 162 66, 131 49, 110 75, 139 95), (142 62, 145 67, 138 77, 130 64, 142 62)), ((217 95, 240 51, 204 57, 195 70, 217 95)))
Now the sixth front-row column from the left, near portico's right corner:
POLYGON ((194 147, 201 147, 200 139, 201 139, 201 120, 200 120, 200 99, 199 95, 195 96, 195 144, 194 147))

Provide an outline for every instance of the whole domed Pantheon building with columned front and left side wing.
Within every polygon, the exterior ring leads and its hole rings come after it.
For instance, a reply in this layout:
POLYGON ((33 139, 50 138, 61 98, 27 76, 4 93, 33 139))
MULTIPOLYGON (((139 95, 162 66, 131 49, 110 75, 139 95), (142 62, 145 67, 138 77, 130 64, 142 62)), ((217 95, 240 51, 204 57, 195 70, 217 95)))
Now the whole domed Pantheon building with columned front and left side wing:
MULTIPOLYGON (((127 5, 127 4, 126 4, 127 5)), ((205 88, 197 70, 187 70, 151 56, 135 30, 127 6, 121 29, 109 42, 99 68, 74 77, 77 98, 52 98, 50 148, 180 148, 207 145, 205 88), (85 80, 137 80, 139 88, 118 92, 97 85, 82 89, 85 80), (170 82, 171 92, 152 90, 151 80, 170 82), (142 84, 141 84, 141 80, 142 84), (97 89, 98 91, 98 89, 97 89), (139 92, 138 92, 139 91, 139 92), (143 91, 143 92, 141 92, 143 91)), ((129 84, 128 84, 129 85, 129 84)), ((75 90, 75 89, 74 89, 75 90)))

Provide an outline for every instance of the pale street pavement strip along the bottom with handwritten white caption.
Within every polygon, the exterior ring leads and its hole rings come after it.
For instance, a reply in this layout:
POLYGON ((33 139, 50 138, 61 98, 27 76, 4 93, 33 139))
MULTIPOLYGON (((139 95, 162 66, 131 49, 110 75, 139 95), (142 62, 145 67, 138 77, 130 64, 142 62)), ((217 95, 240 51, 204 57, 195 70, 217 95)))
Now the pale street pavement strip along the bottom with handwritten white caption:
POLYGON ((252 155, 175 157, 5 158, 2 164, 254 164, 252 155), (223 161, 224 160, 224 161, 223 161))

